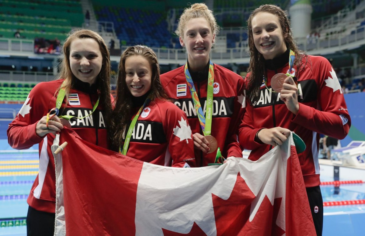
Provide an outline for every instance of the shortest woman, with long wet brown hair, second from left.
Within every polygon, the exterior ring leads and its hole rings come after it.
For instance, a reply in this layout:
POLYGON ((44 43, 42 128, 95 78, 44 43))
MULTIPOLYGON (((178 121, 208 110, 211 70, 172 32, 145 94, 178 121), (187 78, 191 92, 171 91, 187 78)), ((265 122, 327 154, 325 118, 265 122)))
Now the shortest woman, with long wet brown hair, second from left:
POLYGON ((112 149, 123 155, 156 165, 195 167, 186 115, 168 101, 157 56, 149 47, 129 47, 120 57, 109 136, 112 149))

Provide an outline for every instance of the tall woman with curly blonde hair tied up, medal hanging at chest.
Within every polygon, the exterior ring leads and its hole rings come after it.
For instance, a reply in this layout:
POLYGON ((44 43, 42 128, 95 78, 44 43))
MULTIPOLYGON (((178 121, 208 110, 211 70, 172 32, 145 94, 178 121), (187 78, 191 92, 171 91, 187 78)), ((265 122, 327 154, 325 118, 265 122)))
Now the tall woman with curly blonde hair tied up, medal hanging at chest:
POLYGON ((214 163, 218 147, 224 157, 242 157, 237 129, 245 110, 243 78, 210 60, 218 32, 207 5, 186 8, 175 33, 186 48, 187 63, 161 75, 169 97, 189 119, 197 166, 214 163))

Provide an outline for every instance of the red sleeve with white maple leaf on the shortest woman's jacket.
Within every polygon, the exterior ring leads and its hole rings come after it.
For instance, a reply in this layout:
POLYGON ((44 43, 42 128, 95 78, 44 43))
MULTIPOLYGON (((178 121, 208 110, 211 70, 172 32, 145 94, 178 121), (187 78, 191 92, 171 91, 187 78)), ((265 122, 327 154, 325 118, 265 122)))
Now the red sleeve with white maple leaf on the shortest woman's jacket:
POLYGON ((195 167, 194 141, 188 118, 177 106, 166 109, 165 124, 166 140, 172 158, 173 167, 184 167, 188 164, 195 167))

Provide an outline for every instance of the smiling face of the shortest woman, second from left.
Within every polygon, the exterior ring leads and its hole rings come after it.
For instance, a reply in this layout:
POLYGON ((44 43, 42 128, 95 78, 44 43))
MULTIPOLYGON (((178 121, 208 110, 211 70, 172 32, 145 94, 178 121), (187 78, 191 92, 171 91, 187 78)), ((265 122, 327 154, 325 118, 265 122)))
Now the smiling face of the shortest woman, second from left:
POLYGON ((150 62, 141 55, 129 56, 124 64, 126 84, 134 97, 141 97, 151 89, 152 69, 150 62))

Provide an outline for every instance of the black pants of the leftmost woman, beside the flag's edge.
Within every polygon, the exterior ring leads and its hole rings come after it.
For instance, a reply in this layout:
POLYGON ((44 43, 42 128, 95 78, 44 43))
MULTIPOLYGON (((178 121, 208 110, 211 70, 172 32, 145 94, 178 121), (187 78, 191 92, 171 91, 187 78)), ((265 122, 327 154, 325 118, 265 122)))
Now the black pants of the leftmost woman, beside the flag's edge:
POLYGON ((28 207, 27 236, 53 236, 55 213, 37 211, 28 207))

